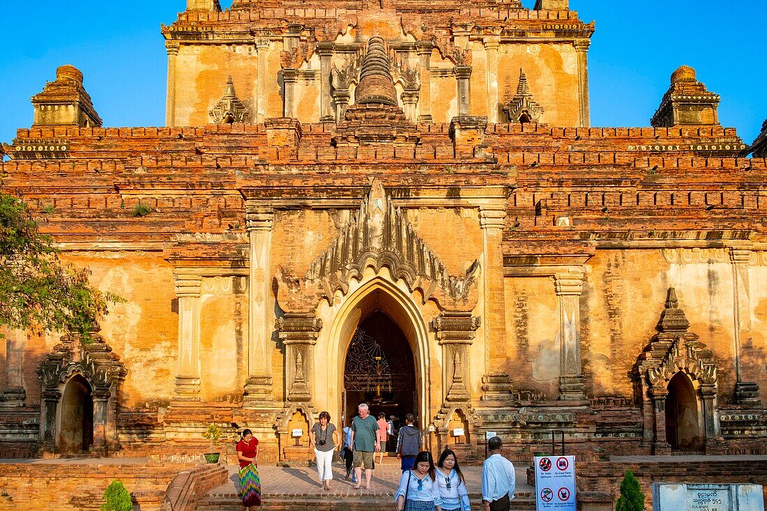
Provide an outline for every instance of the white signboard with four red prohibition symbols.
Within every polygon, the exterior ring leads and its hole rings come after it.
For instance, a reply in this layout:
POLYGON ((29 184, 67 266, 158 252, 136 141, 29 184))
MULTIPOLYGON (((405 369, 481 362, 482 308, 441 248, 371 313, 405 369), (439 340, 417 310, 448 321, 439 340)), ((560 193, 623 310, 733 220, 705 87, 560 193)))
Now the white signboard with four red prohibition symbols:
POLYGON ((538 511, 575 511, 575 457, 535 457, 535 503, 538 511))

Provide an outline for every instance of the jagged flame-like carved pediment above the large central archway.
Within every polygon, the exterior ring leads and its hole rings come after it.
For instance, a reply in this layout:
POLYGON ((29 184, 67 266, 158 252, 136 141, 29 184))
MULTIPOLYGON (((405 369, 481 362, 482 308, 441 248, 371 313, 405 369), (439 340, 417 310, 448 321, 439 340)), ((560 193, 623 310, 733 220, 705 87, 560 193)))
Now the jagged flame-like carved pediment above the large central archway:
POLYGON ((292 277, 278 267, 279 305, 298 312, 313 310, 321 299, 332 304, 335 293, 346 294, 349 282, 362 279, 367 267, 376 272, 386 267, 395 281, 403 279, 411 291, 420 290, 424 302, 433 299, 456 311, 476 306, 479 261, 475 259, 465 275, 449 275, 379 182, 373 183, 360 209, 341 226, 336 240, 311 263, 304 277, 292 277))

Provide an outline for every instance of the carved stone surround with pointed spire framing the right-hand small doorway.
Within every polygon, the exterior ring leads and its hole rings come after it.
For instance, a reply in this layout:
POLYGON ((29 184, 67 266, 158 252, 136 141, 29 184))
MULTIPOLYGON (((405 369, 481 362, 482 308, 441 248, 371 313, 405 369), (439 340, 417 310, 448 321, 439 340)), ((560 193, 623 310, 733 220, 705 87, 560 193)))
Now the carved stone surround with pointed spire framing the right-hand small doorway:
POLYGON ((703 443, 720 434, 716 411, 718 377, 713 352, 698 335, 688 331, 690 322, 679 307, 674 288, 669 288, 666 308, 660 315, 658 333, 637 359, 632 370, 637 400, 644 415, 644 440, 654 453, 670 452, 667 442, 666 407, 669 384, 683 373, 693 384, 703 426, 703 443))

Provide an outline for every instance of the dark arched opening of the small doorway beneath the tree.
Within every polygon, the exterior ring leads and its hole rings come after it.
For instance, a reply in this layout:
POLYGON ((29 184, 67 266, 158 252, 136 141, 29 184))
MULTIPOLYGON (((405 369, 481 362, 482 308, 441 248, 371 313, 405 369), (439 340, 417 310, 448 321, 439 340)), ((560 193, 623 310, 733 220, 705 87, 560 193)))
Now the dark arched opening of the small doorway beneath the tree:
POLYGON ((91 384, 75 374, 61 395, 58 447, 64 452, 89 450, 94 444, 94 400, 91 384))

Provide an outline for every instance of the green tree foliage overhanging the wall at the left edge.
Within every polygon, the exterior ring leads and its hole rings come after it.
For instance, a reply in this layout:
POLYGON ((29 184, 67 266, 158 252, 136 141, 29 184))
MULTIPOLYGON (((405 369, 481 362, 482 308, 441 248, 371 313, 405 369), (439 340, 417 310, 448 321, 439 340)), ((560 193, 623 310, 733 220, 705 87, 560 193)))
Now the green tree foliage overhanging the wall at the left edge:
POLYGON ((25 203, 0 193, 0 325, 91 340, 107 302, 120 298, 92 288, 89 275, 61 262, 25 203))

